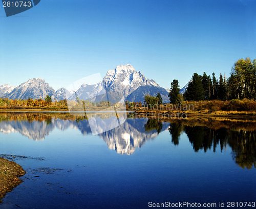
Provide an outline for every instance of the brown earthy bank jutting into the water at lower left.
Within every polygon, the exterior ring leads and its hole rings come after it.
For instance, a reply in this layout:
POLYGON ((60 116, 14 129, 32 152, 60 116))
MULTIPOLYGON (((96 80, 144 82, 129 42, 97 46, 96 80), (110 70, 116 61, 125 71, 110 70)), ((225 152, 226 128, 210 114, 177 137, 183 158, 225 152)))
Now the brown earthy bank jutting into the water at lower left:
POLYGON ((16 162, 0 157, 0 201, 7 192, 23 182, 18 177, 25 174, 26 172, 16 162))

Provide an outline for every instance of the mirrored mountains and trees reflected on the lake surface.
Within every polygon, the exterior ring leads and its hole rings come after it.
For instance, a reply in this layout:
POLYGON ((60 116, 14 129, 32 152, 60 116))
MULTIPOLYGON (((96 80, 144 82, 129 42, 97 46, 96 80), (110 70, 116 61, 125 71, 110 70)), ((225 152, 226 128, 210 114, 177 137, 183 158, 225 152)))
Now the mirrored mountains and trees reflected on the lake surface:
MULTIPOLYGON (((126 114, 126 113, 124 113, 126 114)), ((101 121, 110 123, 113 114, 92 114, 101 121)), ((9 134, 18 132, 36 141, 44 140, 55 128, 67 130, 77 129, 82 134, 92 134, 87 117, 75 117, 67 113, 13 113, 0 115, 0 132, 9 134)), ((95 128, 95 127, 94 127, 95 128)), ((100 127, 99 127, 100 128, 100 127)), ((120 126, 100 133, 109 149, 119 154, 133 154, 146 141, 154 139, 162 131, 169 131, 170 140, 179 145, 180 136, 186 134, 195 152, 221 151, 231 147, 232 157, 241 168, 256 168, 256 126, 255 122, 219 122, 205 123, 200 121, 181 120, 179 122, 158 122, 154 119, 128 118, 120 126), (220 145, 220 146, 218 146, 220 145)))

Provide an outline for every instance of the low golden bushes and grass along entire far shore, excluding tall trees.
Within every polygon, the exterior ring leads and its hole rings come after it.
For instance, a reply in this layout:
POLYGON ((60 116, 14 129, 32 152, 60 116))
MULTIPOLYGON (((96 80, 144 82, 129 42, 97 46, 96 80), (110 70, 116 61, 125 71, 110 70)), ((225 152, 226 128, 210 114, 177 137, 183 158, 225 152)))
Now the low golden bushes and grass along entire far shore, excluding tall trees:
MULTIPOLYGON (((145 100, 154 100, 155 97, 145 96, 145 100)), ((156 98, 155 98, 156 99, 156 98)), ((144 105, 141 102, 125 102, 124 104, 101 101, 98 104, 92 102, 79 100, 79 102, 72 102, 71 106, 65 106, 58 102, 49 104, 47 106, 15 106, 12 104, 12 100, 5 100, 5 105, 0 106, 0 112, 26 112, 26 111, 134 111, 137 114, 180 114, 185 113, 187 117, 193 117, 194 115, 207 115, 208 117, 216 117, 222 115, 222 117, 237 115, 239 117, 253 117, 256 118, 256 101, 249 99, 233 99, 233 100, 205 100, 205 101, 183 101, 181 104, 158 104, 157 102, 144 101, 144 105)), ((22 100, 23 102, 26 100, 22 100)), ((31 99, 31 101, 36 101, 31 99)), ((156 100, 158 101, 158 100, 156 100)), ((26 103, 26 102, 24 102, 26 103)), ((1 104, 1 101, 0 101, 1 104)), ((68 104, 67 104, 68 105, 68 104)))

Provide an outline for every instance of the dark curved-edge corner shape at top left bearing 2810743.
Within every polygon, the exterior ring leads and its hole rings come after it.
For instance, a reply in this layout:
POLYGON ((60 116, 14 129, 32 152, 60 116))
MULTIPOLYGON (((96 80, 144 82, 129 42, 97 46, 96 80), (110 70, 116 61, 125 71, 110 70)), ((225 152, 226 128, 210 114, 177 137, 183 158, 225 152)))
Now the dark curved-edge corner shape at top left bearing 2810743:
POLYGON ((12 16, 21 12, 25 12, 36 6, 40 0, 2 0, 6 16, 12 16))

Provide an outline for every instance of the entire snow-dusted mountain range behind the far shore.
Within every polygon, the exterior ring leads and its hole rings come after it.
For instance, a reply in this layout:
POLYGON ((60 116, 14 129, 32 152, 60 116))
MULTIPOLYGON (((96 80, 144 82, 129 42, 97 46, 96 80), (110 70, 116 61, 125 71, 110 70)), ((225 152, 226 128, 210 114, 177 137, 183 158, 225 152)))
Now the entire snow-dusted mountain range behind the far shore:
MULTIPOLYGON (((182 89, 184 91, 184 89, 182 89)), ((33 78, 20 84, 0 86, 0 97, 9 99, 44 99, 47 95, 53 99, 75 100, 76 97, 93 102, 106 101, 117 102, 122 99, 133 102, 144 101, 144 95, 156 96, 160 93, 163 102, 168 102, 168 91, 160 87, 154 80, 147 79, 141 72, 135 71, 130 64, 119 65, 108 71, 105 77, 96 84, 82 84, 79 89, 69 91, 60 88, 55 91, 42 78, 33 78)))

